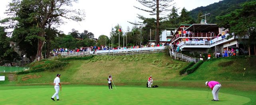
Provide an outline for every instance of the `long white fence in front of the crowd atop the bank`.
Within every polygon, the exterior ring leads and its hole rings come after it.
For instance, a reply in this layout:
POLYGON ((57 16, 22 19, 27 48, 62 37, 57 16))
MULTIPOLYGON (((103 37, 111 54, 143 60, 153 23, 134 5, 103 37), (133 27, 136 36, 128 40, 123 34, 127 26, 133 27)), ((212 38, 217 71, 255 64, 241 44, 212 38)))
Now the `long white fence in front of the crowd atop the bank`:
POLYGON ((140 53, 158 53, 163 52, 165 46, 149 47, 149 48, 134 48, 134 49, 121 49, 121 50, 99 50, 87 52, 62 52, 62 56, 79 56, 79 55, 133 55, 140 53))

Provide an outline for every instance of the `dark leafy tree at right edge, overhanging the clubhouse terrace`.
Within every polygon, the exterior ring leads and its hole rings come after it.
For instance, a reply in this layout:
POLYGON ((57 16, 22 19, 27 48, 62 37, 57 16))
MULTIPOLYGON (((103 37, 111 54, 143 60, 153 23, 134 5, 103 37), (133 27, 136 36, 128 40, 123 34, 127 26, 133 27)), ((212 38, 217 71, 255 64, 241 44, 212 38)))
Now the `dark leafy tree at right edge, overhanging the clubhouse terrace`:
POLYGON ((218 24, 221 27, 229 28, 239 38, 249 36, 249 46, 256 40, 256 1, 245 2, 241 9, 236 9, 230 14, 218 16, 218 24))

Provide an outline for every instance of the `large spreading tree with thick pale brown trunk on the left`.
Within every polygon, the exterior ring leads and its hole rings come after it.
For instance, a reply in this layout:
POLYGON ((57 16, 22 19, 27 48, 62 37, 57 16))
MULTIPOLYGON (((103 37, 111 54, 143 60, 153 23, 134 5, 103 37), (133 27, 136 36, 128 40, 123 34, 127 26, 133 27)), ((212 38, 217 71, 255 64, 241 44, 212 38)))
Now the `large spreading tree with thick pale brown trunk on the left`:
POLYGON ((23 18, 20 18, 16 13, 23 11, 22 7, 29 6, 32 10, 25 20, 36 22, 37 33, 34 36, 38 40, 36 53, 38 60, 43 58, 42 48, 45 42, 46 26, 50 22, 60 23, 62 21, 60 17, 74 21, 84 20, 83 11, 67 9, 67 7, 72 6, 73 2, 77 2, 77 0, 12 0, 9 4, 8 14, 14 16, 12 19, 18 22, 23 18))

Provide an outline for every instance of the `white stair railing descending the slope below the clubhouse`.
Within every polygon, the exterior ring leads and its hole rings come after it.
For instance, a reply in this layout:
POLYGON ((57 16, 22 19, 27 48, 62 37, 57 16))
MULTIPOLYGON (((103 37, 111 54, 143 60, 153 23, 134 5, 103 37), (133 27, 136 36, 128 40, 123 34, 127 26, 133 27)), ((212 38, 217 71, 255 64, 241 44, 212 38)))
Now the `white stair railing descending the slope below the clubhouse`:
POLYGON ((189 57, 187 55, 181 54, 181 53, 177 53, 177 52, 172 52, 170 51, 170 55, 171 57, 173 57, 173 59, 178 59, 181 61, 187 61, 187 62, 194 62, 196 63, 196 61, 198 61, 196 58, 194 57, 189 57))

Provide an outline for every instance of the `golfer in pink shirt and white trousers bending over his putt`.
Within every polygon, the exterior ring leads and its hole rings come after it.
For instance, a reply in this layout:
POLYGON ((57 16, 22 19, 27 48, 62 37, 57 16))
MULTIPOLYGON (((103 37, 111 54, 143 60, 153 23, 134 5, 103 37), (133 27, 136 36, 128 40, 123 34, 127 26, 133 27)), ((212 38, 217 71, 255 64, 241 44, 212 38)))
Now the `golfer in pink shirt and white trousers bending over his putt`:
POLYGON ((217 81, 206 81, 205 85, 208 85, 212 89, 212 101, 219 101, 218 93, 221 87, 220 83, 218 83, 217 81))

